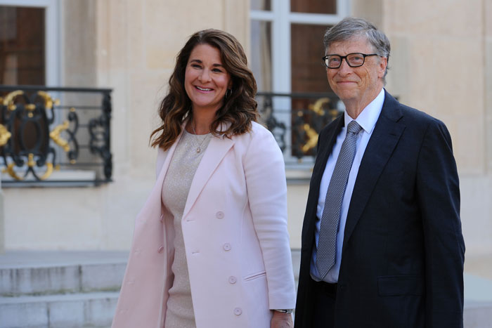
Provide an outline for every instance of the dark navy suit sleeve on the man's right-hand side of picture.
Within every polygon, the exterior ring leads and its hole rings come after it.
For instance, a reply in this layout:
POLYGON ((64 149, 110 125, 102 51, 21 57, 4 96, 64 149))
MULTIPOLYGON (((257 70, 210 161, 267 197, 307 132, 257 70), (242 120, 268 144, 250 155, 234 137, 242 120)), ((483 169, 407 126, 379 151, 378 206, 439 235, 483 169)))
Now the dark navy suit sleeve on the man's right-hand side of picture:
POLYGON ((426 261, 426 327, 463 327, 465 242, 458 171, 446 126, 433 120, 418 157, 417 193, 426 261))

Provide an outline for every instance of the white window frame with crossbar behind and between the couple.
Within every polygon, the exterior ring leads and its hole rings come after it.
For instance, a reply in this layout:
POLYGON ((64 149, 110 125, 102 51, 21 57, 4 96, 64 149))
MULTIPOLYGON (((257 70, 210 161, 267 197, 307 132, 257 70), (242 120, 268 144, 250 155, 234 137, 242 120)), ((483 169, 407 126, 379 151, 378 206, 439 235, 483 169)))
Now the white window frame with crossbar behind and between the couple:
MULTIPOLYGON (((309 25, 335 25, 347 17, 350 13, 350 0, 337 0, 337 14, 319 13, 293 13, 290 12, 290 0, 271 0, 271 11, 250 11, 250 20, 271 22, 271 58, 272 58, 272 92, 292 92, 291 72, 291 35, 292 23, 309 25)), ((322 36, 320 36, 321 39, 322 36)), ((289 98, 273 98, 273 107, 290 110, 289 98)), ((279 115, 278 121, 290 127, 290 115, 279 115), (283 116, 283 117, 281 117, 283 116)), ((289 130, 290 131, 290 130, 289 130)), ((291 145, 291 134, 286 133, 285 143, 287 148, 291 145)), ((310 169, 313 165, 311 158, 306 158, 299 163, 297 157, 285 155, 285 164, 290 169, 310 169)))

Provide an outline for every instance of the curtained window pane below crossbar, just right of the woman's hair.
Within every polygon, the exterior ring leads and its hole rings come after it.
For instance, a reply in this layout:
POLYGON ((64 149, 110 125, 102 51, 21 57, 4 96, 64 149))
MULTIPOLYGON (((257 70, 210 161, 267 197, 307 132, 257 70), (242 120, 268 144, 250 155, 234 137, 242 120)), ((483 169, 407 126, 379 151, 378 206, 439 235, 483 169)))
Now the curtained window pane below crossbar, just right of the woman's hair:
POLYGON ((250 61, 258 91, 271 91, 271 22, 251 21, 250 61))

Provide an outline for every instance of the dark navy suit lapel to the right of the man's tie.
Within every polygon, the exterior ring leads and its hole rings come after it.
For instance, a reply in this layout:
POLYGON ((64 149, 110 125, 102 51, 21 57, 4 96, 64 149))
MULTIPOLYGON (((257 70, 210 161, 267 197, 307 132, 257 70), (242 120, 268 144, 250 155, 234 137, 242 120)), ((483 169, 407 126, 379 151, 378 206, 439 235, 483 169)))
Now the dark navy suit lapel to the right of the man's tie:
POLYGON ((347 214, 344 231, 344 247, 361 217, 370 195, 373 193, 378 178, 387 164, 396 144, 398 143, 405 125, 401 119, 401 110, 396 99, 385 92, 384 104, 379 119, 377 119, 373 135, 365 148, 361 165, 359 166, 354 191, 347 214))

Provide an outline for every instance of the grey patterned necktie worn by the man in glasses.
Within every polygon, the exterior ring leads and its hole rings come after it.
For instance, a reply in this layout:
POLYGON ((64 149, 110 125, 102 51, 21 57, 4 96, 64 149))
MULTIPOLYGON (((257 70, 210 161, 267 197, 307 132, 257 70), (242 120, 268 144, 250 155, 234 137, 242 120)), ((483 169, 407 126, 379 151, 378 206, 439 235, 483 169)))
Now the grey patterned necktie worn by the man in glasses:
POLYGON ((355 121, 350 122, 347 126, 347 136, 345 136, 345 140, 342 143, 337 164, 335 164, 328 191, 326 192, 325 208, 321 216, 316 253, 316 268, 318 268, 321 279, 335 265, 340 210, 342 209, 342 200, 347 187, 349 172, 352 162, 354 162, 357 134, 361 129, 361 126, 355 121))

